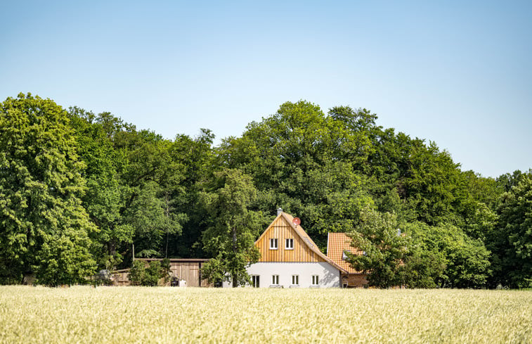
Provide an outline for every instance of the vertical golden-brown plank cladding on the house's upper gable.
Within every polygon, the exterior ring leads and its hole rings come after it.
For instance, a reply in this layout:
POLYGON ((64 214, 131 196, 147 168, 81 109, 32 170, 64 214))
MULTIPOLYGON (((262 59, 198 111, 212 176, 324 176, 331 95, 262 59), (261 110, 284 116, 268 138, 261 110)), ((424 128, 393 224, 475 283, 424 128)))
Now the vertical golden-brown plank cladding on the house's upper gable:
POLYGON ((255 247, 261 252, 259 262, 325 262, 322 257, 316 255, 306 243, 295 233, 294 229, 287 224, 283 217, 279 217, 267 229, 266 234, 255 243, 255 247), (278 239, 278 249, 270 250, 270 239, 278 239), (285 239, 294 239, 294 249, 285 248, 285 239))

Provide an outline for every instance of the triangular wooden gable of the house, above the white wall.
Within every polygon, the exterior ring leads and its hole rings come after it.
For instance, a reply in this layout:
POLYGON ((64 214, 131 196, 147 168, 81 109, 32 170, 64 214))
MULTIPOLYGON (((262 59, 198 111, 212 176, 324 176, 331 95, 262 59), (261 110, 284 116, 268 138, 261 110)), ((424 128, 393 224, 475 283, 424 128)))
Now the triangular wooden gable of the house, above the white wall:
POLYGON ((327 257, 316 252, 316 244, 299 227, 291 223, 292 217, 285 212, 278 215, 266 231, 255 241, 255 247, 261 252, 259 262, 328 262, 327 257), (301 235, 304 234, 304 235, 301 235), (270 239, 278 240, 276 250, 270 249, 270 239), (286 239, 294 239, 294 248, 285 248, 286 239))

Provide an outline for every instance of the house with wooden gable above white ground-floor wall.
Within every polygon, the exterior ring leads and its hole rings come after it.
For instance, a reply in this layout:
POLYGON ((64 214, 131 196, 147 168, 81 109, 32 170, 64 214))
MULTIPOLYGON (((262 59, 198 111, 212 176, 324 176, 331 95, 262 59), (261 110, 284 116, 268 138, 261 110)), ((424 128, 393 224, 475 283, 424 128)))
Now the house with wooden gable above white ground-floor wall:
POLYGON ((320 251, 299 219, 280 208, 254 245, 261 258, 247 273, 256 288, 339 288, 342 274, 348 274, 320 251))

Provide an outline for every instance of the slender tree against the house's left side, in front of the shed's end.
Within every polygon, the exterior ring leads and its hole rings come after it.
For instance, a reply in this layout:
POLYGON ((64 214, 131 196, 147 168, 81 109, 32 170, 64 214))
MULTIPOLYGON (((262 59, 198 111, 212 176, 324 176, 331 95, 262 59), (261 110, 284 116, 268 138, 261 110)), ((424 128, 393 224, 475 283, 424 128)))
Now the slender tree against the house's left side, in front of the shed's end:
POLYGON ((249 210, 257 198, 251 177, 240 170, 226 169, 215 173, 214 190, 204 193, 210 215, 210 227, 202 236, 203 246, 212 260, 202 269, 209 281, 233 281, 233 287, 249 284, 246 267, 259 260, 253 246, 261 214, 249 210))

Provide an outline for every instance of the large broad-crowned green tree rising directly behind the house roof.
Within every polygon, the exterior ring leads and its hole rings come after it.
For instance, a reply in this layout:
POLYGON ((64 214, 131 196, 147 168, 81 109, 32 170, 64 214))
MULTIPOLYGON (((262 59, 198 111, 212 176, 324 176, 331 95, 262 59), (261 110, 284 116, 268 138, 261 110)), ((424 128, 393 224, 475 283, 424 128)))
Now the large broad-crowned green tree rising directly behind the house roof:
POLYGON ((282 205, 297 213, 321 248, 327 245, 327 231, 352 228, 361 208, 372 203, 367 180, 355 168, 371 151, 368 137, 344 122, 356 116, 353 110, 335 111, 326 116, 307 101, 283 103, 277 113, 250 123, 242 137, 223 141, 217 151, 220 165, 252 176, 261 211, 282 205))

